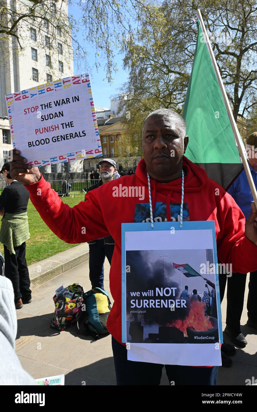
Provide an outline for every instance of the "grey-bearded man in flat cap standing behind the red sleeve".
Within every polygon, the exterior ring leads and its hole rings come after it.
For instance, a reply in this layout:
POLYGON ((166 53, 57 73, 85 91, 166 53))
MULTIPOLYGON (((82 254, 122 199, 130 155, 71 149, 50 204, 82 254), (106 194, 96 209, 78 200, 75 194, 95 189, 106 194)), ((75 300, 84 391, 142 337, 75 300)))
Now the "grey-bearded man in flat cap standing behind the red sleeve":
MULTIPOLYGON (((117 173, 116 162, 113 159, 101 159, 99 166, 101 180, 90 186, 87 192, 111 182, 117 173)), ((89 279, 92 289, 104 289, 104 260, 106 257, 111 265, 115 242, 111 236, 106 236, 87 243, 89 244, 89 279)))

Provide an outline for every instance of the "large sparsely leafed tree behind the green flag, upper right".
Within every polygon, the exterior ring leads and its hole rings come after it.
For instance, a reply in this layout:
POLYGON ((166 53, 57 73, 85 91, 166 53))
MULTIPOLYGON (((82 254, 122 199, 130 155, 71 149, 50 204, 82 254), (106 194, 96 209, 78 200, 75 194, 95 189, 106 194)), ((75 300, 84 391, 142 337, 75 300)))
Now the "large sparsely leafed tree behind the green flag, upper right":
POLYGON ((256 107, 256 1, 165 0, 139 16, 138 28, 127 40, 124 68, 129 78, 121 90, 127 100, 120 109, 133 112, 137 107, 142 118, 156 107, 182 112, 196 46, 192 18, 197 8, 210 34, 234 118, 238 113, 247 116, 256 107))

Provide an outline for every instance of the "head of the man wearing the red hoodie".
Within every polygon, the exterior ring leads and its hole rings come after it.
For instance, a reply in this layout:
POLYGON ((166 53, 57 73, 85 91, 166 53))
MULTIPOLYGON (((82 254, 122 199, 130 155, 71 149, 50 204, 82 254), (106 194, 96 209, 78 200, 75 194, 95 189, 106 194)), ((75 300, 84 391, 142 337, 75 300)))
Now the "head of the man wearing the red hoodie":
POLYGON ((181 168, 188 136, 172 115, 154 115, 144 125, 142 143, 148 173, 161 179, 174 175, 181 168))

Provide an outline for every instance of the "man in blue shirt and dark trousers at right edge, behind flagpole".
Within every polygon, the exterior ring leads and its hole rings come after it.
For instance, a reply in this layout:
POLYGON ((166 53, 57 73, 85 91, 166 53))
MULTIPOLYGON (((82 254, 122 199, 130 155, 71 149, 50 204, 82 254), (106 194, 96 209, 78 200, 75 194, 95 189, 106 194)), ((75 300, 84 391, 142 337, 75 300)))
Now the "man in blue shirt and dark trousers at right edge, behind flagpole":
MULTIPOLYGON (((249 167, 257 189, 257 132, 252 133, 246 140, 246 151, 249 159, 249 167)), ((247 220, 251 213, 252 193, 246 177, 245 169, 229 187, 228 193, 234 198, 247 220)), ((247 271, 245 271, 247 272, 247 271)), ((247 340, 240 331, 240 318, 243 311, 245 294, 246 273, 232 273, 228 277, 227 285, 227 310, 226 329, 231 342, 236 346, 245 347, 247 340)), ((248 321, 247 325, 257 329, 257 271, 250 272, 249 292, 247 300, 248 321)))

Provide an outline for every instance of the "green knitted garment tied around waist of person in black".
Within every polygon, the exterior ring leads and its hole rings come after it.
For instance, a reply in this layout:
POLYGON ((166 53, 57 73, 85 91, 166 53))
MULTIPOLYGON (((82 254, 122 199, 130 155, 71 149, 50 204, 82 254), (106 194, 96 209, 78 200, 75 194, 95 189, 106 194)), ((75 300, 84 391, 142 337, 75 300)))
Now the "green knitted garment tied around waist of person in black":
POLYGON ((28 216, 25 213, 5 213, 0 229, 0 242, 15 254, 14 248, 29 239, 28 216))

